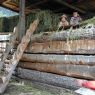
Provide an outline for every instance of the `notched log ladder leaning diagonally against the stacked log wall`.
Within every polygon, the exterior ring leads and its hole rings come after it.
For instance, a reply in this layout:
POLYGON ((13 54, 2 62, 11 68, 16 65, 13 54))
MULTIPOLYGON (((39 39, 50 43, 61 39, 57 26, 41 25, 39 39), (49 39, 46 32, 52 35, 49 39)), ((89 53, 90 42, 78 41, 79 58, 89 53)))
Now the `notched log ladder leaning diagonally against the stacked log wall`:
POLYGON ((8 66, 3 72, 1 72, 0 93, 3 93, 5 91, 18 62, 20 61, 28 43, 30 42, 31 35, 37 28, 37 25, 38 20, 35 20, 32 24, 30 24, 29 29, 26 31, 26 35, 22 38, 21 43, 18 45, 16 52, 14 52, 8 66))

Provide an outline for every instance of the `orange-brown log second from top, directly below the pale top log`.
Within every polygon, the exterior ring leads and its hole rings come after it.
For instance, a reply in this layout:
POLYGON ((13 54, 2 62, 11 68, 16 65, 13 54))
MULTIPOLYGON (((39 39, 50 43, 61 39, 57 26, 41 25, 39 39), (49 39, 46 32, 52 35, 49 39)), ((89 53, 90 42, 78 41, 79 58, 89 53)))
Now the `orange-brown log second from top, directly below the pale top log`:
POLYGON ((95 40, 50 41, 30 43, 26 52, 30 53, 69 53, 95 54, 95 40))

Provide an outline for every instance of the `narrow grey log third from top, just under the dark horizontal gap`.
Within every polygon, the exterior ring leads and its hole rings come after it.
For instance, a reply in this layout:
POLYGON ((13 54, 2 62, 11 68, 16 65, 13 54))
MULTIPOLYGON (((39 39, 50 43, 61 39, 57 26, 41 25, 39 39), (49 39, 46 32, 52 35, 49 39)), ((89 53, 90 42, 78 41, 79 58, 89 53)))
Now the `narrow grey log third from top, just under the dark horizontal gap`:
POLYGON ((95 65, 95 56, 55 55, 55 54, 23 54, 21 61, 38 63, 69 63, 95 65))

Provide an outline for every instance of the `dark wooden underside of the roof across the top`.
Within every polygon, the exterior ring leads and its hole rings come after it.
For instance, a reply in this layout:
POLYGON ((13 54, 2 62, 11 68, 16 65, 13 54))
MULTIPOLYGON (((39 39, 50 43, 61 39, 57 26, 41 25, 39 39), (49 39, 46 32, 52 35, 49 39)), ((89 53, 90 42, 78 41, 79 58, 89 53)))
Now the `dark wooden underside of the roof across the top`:
MULTIPOLYGON (((19 0, 0 0, 0 5, 14 11, 19 11, 19 0)), ((95 11, 95 0, 26 0, 26 13, 49 9, 57 13, 72 13, 79 11, 87 13, 95 11)))

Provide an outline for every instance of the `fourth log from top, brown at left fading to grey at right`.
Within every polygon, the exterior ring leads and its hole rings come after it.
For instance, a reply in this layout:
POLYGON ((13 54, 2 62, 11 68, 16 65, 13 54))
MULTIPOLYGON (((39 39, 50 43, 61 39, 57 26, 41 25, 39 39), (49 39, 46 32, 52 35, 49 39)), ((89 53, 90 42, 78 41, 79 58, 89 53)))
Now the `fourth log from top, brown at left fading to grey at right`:
POLYGON ((21 62, 19 67, 71 77, 95 79, 95 66, 21 62))

